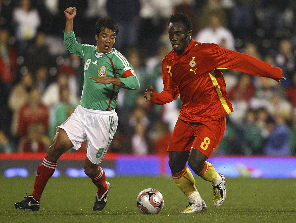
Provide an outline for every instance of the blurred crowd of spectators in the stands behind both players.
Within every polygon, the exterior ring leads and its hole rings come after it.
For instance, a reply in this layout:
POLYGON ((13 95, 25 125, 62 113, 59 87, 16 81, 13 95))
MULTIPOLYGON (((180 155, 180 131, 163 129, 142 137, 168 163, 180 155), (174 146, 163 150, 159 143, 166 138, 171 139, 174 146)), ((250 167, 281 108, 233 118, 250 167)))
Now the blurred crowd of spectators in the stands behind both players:
POLYGON ((96 45, 98 17, 118 23, 114 47, 140 81, 138 91, 120 89, 119 125, 108 151, 166 155, 181 101, 160 106, 143 95, 150 85, 163 89, 161 61, 172 49, 167 21, 182 12, 192 19, 195 41, 250 54, 286 77, 278 84, 223 71, 234 113, 213 155, 296 154, 295 0, 0 0, 0 152, 46 151, 56 126, 79 104, 83 60, 66 52, 63 41, 64 10, 71 6, 83 44, 96 45))

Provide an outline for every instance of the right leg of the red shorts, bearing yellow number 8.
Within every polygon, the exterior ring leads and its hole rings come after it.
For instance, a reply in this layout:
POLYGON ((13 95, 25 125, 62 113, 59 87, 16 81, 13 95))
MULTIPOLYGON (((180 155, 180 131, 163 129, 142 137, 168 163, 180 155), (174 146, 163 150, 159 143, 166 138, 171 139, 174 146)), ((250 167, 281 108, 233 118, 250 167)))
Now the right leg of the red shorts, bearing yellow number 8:
POLYGON ((194 130, 192 147, 209 157, 221 141, 225 127, 225 117, 192 126, 194 130))

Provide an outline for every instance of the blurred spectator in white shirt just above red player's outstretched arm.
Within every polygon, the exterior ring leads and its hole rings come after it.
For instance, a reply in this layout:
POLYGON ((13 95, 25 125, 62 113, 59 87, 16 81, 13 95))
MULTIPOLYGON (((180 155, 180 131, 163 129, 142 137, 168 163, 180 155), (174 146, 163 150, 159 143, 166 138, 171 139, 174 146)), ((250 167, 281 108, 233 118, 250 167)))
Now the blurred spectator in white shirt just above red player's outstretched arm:
POLYGON ((221 18, 217 14, 211 14, 208 20, 208 26, 201 29, 194 39, 201 43, 215 43, 223 48, 234 50, 234 37, 228 28, 221 25, 221 18))

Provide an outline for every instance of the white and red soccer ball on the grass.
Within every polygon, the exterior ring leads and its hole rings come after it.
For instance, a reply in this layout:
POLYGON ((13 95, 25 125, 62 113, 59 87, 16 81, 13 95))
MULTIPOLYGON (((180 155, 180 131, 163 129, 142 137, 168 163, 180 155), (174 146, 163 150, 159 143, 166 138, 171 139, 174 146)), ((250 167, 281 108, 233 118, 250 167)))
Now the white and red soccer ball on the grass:
POLYGON ((163 195, 153 188, 142 190, 137 197, 137 207, 142 214, 158 214, 163 202, 163 195))

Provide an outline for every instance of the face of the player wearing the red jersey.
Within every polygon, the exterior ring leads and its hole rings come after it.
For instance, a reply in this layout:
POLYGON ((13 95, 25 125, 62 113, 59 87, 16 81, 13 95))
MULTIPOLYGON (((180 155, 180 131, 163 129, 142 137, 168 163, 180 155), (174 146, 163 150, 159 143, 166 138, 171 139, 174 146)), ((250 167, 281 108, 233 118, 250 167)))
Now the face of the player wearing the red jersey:
POLYGON ((170 23, 168 25, 168 36, 173 46, 173 50, 182 54, 191 40, 192 30, 186 31, 186 26, 182 22, 170 23))

